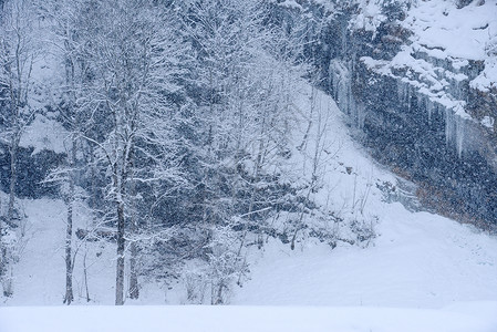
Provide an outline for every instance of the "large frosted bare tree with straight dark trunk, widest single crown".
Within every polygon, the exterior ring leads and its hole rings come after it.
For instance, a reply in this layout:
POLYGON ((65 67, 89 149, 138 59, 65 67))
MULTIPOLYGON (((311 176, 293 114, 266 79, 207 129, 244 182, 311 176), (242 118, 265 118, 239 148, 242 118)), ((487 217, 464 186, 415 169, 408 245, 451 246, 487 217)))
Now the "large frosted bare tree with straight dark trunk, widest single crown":
MULTIPOLYGON (((176 89, 172 76, 177 71, 175 62, 180 48, 175 44, 175 30, 170 29, 164 8, 154 1, 93 1, 90 10, 99 24, 87 49, 96 75, 92 97, 99 101, 96 112, 105 114, 111 128, 105 134, 102 131, 100 137, 85 139, 97 147, 110 175, 107 198, 115 205, 117 226, 115 303, 121 305, 126 229, 137 230, 136 218, 131 218, 136 184, 179 178, 169 158, 176 144, 172 138, 174 114, 166 95, 176 89), (137 154, 146 163, 136 165, 137 154)), ((132 255, 136 255, 135 241, 131 246, 132 255)), ((136 257, 131 262, 130 295, 136 298, 136 257)))

